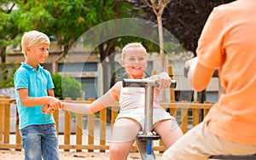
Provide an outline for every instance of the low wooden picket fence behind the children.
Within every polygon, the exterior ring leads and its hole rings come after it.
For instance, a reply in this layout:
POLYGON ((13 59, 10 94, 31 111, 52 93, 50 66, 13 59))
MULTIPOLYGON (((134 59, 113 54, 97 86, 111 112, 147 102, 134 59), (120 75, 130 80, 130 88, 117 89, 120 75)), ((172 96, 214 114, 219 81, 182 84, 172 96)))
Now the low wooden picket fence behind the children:
MULTIPOLYGON (((91 103, 91 101, 92 100, 73 100, 73 103, 91 103)), ((10 132, 11 105, 15 106, 15 100, 0 96, 0 149, 15 149, 20 151, 22 146, 17 113, 15 113, 15 133, 12 134, 10 132), (15 143, 10 142, 11 134, 15 136, 15 143)), ((167 111, 170 111, 172 116, 177 118, 177 122, 183 130, 183 133, 186 133, 190 128, 200 123, 200 115, 202 114, 201 116, 205 117, 212 104, 188 103, 183 101, 179 103, 160 103, 160 106, 166 108, 167 111)), ((108 131, 110 130, 111 132, 118 111, 118 103, 92 115, 75 114, 62 110, 55 111, 54 117, 57 134, 59 139, 61 137, 63 139, 63 142, 59 140, 59 148, 64 151, 107 151, 109 149, 108 137, 111 134, 108 133, 108 131), (107 110, 111 110, 110 122, 107 122, 107 110), (61 117, 61 113, 64 117, 61 117), (76 124, 74 133, 72 133, 71 130, 71 123, 76 124), (60 133, 60 125, 64 126, 63 133, 60 133), (96 135, 96 129, 99 131, 98 135, 96 135), (75 140, 72 140, 73 137, 75 137, 75 140), (96 141, 98 143, 96 143, 96 141)), ((165 148, 161 146, 161 143, 158 143, 156 145, 154 144, 153 150, 165 151, 165 148)), ((137 151, 137 146, 132 146, 131 151, 137 151)))

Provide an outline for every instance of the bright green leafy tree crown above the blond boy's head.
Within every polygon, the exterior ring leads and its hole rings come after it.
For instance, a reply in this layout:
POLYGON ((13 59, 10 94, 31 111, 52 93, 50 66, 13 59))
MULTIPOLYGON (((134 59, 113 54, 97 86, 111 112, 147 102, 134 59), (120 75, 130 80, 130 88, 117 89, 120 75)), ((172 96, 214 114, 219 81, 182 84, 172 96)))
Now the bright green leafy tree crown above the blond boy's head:
POLYGON ((18 8, 20 28, 23 31, 43 31, 63 46, 64 54, 95 21, 90 3, 83 0, 30 0, 22 1, 18 8))

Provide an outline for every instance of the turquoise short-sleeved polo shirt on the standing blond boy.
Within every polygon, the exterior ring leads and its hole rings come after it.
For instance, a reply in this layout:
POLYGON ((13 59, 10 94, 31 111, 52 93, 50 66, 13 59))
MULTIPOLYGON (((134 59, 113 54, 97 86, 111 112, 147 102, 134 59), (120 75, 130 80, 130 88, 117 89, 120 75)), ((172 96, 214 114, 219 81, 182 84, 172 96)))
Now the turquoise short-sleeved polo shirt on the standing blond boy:
POLYGON ((15 98, 19 112, 20 127, 23 129, 30 125, 40 125, 55 123, 52 114, 44 114, 41 106, 22 106, 18 89, 28 89, 30 97, 48 96, 48 89, 54 89, 54 84, 49 71, 44 70, 43 66, 38 64, 38 71, 32 66, 22 62, 20 68, 15 71, 15 98))

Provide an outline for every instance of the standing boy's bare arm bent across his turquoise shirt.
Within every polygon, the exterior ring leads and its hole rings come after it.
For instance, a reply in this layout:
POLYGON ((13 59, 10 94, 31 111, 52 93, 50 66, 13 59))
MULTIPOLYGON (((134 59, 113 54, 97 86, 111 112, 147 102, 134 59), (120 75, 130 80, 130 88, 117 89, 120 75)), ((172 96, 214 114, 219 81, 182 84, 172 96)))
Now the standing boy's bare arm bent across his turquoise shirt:
POLYGON ((28 89, 26 88, 18 89, 18 92, 19 92, 20 102, 22 106, 30 107, 30 106, 39 106, 39 105, 48 104, 53 109, 62 108, 61 100, 58 100, 53 96, 30 97, 28 95, 28 89))

